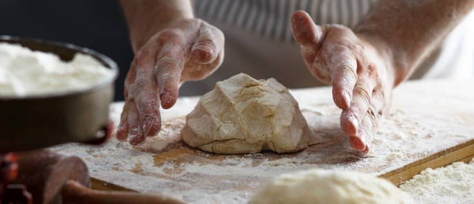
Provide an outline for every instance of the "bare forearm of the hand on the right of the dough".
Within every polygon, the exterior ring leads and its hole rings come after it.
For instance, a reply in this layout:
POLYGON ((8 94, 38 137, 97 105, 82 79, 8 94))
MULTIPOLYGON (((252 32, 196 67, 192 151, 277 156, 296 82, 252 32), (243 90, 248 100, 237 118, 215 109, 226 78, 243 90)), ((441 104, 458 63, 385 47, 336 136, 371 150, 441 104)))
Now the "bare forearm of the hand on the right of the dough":
POLYGON ((388 46, 396 86, 474 8, 473 0, 379 0, 354 32, 388 46))

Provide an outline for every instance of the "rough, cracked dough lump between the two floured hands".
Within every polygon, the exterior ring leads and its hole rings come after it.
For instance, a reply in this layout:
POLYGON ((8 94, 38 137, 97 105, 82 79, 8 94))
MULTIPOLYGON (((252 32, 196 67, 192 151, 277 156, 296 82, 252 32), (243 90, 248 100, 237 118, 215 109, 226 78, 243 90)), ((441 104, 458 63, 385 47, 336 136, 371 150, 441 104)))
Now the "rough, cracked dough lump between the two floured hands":
POLYGON ((308 146, 309 128, 288 89, 275 79, 240 73, 216 83, 186 115, 184 142, 217 154, 293 152, 308 146))

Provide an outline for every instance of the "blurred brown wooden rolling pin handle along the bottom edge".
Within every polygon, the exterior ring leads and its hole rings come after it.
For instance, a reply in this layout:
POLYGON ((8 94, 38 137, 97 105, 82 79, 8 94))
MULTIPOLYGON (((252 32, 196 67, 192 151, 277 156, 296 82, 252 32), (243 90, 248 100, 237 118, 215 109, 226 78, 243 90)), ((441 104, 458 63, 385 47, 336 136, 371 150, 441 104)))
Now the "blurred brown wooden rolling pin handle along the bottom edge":
POLYGON ((69 180, 62 187, 62 203, 118 203, 118 204, 183 204, 176 198, 159 194, 139 194, 135 192, 106 192, 84 187, 80 183, 69 180))

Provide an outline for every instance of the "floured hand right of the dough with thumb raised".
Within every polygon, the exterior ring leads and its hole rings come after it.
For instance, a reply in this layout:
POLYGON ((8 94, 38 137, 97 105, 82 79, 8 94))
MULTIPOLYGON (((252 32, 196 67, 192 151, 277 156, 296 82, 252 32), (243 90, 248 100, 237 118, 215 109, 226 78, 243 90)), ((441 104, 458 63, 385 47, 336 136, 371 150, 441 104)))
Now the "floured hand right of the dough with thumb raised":
POLYGON ((304 11, 293 13, 291 25, 309 71, 333 86, 334 102, 343 109, 340 126, 351 146, 369 151, 377 124, 390 108, 398 74, 389 46, 345 26, 316 26, 304 11))

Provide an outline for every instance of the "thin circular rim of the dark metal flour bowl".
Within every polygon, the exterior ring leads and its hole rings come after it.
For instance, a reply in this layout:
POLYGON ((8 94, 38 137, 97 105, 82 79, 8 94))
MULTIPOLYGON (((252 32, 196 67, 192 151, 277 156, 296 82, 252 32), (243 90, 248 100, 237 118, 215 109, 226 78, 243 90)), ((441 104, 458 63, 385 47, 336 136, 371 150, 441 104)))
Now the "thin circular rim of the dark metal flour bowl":
MULTIPOLYGON (((96 91, 98 89, 102 89, 111 84, 114 84, 114 82, 118 78, 118 65, 116 64, 116 62, 114 62, 110 57, 107 57, 107 55, 103 55, 102 53, 99 53, 90 48, 85 48, 82 46, 77 46, 75 44, 69 44, 69 43, 64 43, 60 41, 50 41, 50 40, 45 40, 45 39, 37 39, 37 38, 29 38, 29 37, 15 37, 11 35, 0 35, 0 43, 2 42, 10 43, 10 44, 21 44, 21 42, 26 42, 26 43, 30 42, 30 43, 35 43, 35 44, 45 44, 48 46, 57 46, 57 47, 73 50, 76 53, 82 53, 82 54, 94 57, 94 59, 97 59, 102 65, 111 69, 113 76, 107 78, 107 80, 101 80, 100 82, 98 82, 97 84, 94 84, 93 86, 88 86, 82 89, 75 89, 72 91, 58 91, 58 92, 53 92, 53 93, 35 94, 35 95, 0 95, 0 101, 62 98, 62 97, 68 97, 71 95, 89 93, 89 92, 96 91)), ((27 46, 24 46, 24 47, 28 48, 27 46)), ((53 53, 53 52, 46 52, 46 53, 52 53, 54 55, 57 55, 57 53, 53 53)))

